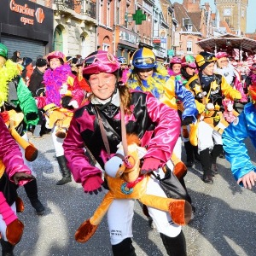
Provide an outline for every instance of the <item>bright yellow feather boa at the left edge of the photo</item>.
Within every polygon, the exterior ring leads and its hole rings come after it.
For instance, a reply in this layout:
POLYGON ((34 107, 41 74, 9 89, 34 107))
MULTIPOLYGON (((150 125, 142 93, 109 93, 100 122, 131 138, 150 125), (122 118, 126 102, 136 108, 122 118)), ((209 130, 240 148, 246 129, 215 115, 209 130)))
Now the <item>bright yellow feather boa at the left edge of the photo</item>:
POLYGON ((8 100, 9 81, 19 74, 17 64, 11 60, 6 61, 2 68, 0 67, 0 106, 8 100))

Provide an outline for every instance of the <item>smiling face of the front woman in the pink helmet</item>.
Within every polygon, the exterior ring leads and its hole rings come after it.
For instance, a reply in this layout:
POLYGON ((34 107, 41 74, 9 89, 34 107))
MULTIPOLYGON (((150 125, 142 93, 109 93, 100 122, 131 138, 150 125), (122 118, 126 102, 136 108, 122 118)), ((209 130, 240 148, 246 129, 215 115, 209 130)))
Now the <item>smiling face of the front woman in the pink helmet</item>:
POLYGON ((116 77, 113 73, 91 74, 89 83, 94 96, 100 100, 107 100, 115 89, 116 77))

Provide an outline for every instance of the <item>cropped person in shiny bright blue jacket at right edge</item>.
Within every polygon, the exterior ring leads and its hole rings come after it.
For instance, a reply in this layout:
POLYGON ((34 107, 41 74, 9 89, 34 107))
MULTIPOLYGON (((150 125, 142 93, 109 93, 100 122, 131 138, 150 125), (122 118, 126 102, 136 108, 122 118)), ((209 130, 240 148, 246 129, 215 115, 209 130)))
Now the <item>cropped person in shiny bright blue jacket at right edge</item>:
POLYGON ((222 135, 226 159, 230 162, 231 172, 238 184, 252 189, 256 183, 256 166, 247 153, 244 140, 249 137, 256 148, 256 82, 248 87, 250 101, 241 114, 224 130, 222 135))

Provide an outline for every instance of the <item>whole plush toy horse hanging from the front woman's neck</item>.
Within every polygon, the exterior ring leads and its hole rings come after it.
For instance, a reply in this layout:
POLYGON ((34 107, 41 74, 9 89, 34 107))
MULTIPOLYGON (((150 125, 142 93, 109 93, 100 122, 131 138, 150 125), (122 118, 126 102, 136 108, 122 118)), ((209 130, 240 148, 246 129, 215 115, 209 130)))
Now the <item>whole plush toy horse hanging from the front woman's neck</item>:
POLYGON ((124 149, 120 146, 117 153, 106 162, 104 169, 109 191, 94 215, 76 231, 76 241, 85 242, 94 235, 108 207, 116 199, 137 199, 148 207, 169 212, 176 224, 189 223, 192 211, 189 202, 146 194, 149 176, 140 175, 140 159, 146 154, 146 149, 139 147, 140 141, 136 135, 127 136, 127 144, 127 156, 124 156, 124 149))

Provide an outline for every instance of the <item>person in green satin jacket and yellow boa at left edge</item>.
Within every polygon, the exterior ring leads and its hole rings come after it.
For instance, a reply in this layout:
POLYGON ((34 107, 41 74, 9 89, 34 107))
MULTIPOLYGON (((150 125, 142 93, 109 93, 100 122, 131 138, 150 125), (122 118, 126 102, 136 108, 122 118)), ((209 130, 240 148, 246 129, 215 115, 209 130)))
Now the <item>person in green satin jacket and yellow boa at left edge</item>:
MULTIPOLYGON (((13 111, 23 114, 23 121, 16 127, 16 131, 28 141, 26 129, 38 124, 38 107, 32 93, 26 87, 23 79, 20 77, 18 64, 8 60, 8 49, 4 44, 0 44, 0 107, 1 112, 13 111)), ((31 164, 24 157, 24 148, 20 148, 26 166, 32 170, 31 164)), ((35 176, 35 173, 32 172, 35 176)), ((26 183, 24 186, 26 195, 29 198, 32 207, 38 214, 43 214, 44 206, 38 200, 37 180, 26 183)))

